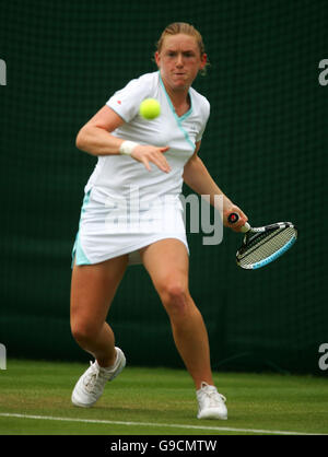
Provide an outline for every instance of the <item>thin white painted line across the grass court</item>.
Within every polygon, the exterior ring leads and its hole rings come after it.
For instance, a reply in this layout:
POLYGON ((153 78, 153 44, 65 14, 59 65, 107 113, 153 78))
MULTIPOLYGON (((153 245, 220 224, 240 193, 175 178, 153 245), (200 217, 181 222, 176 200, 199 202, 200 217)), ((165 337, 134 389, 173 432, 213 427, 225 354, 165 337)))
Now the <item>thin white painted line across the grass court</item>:
POLYGON ((212 430, 216 432, 248 432, 270 435, 325 435, 325 433, 302 433, 302 432, 286 432, 281 430, 258 430, 258 429, 234 429, 229 426, 204 426, 204 425, 189 425, 189 424, 166 424, 154 422, 122 422, 122 421, 106 421, 101 419, 77 419, 77 418, 56 418, 52 415, 32 415, 32 414, 16 414, 10 412, 0 412, 2 418, 19 418, 19 419, 37 419, 43 421, 62 421, 62 422, 80 422, 80 423, 95 423, 108 425, 132 425, 132 426, 156 426, 171 429, 192 429, 192 430, 212 430))

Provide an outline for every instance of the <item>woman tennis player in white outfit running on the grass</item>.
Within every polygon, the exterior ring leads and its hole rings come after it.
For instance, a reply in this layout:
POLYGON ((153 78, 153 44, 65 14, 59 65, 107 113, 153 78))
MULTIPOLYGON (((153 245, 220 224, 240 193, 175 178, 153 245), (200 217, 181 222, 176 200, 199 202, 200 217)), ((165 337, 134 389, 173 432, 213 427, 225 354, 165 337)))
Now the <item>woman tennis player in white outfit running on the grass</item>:
POLYGON ((234 231, 247 216, 216 186, 198 156, 210 115, 209 102, 191 87, 207 66, 201 35, 186 23, 168 25, 157 43, 155 62, 159 71, 116 92, 77 137, 77 147, 98 161, 85 186, 73 247, 71 331, 95 361, 78 380, 72 402, 91 407, 106 382, 125 367, 125 354, 115 345, 106 317, 127 267, 142 262, 194 379, 197 417, 226 419, 225 398, 212 378, 208 332, 188 289, 183 181, 195 192, 209 195, 212 204, 215 195, 222 197, 225 226, 231 212, 239 214, 230 226, 234 231), (153 120, 139 115, 140 103, 149 97, 161 104, 161 115, 153 120), (138 195, 136 204, 131 195, 138 195), (120 223, 115 226, 115 221, 120 223))

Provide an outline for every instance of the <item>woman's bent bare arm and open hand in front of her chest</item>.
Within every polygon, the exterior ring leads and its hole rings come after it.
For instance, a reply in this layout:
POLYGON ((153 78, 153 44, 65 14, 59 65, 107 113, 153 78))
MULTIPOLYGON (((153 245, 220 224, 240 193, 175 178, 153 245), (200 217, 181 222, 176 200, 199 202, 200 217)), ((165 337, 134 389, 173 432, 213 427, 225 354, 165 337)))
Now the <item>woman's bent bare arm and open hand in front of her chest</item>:
MULTIPOLYGON (((75 140, 77 148, 92 155, 118 155, 125 139, 110 134, 124 124, 124 119, 118 116, 109 106, 101 108, 79 131, 75 140)), ((136 145, 131 152, 131 157, 143 163, 150 172, 150 162, 154 163, 162 172, 168 173, 171 167, 164 157, 164 152, 169 148, 153 145, 136 145)))

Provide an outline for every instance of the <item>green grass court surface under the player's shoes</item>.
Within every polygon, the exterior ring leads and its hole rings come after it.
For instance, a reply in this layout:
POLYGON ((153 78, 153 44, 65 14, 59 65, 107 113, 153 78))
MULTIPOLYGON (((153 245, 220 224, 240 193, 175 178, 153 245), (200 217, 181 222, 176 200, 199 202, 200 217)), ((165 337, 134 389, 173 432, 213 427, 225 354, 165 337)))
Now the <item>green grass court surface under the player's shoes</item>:
POLYGON ((196 419, 197 402, 189 375, 185 371, 167 368, 127 367, 106 386, 95 407, 75 408, 70 396, 85 368, 78 363, 9 360, 7 371, 0 371, 0 435, 258 434, 245 429, 328 433, 328 384, 325 378, 214 373, 219 391, 227 398, 229 420, 209 421, 196 419), (107 423, 14 418, 1 415, 3 413, 107 423), (142 425, 145 423, 150 425, 142 425), (195 429, 188 429, 188 425, 195 429), (220 430, 222 427, 235 430, 220 430))

